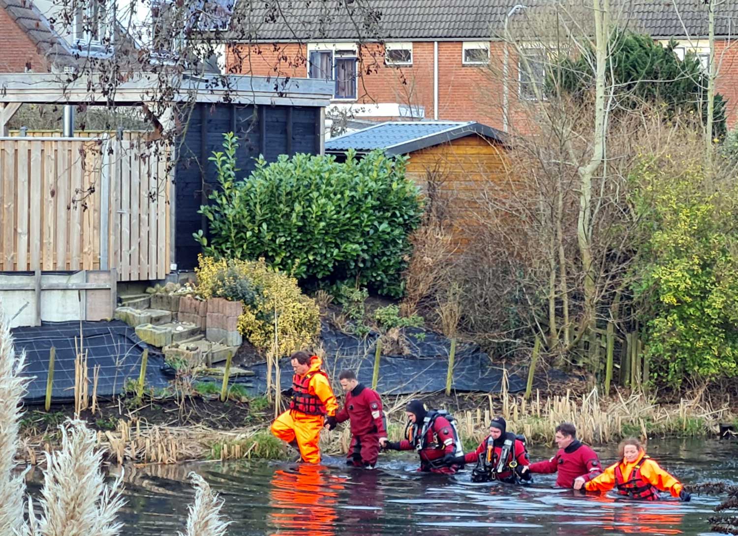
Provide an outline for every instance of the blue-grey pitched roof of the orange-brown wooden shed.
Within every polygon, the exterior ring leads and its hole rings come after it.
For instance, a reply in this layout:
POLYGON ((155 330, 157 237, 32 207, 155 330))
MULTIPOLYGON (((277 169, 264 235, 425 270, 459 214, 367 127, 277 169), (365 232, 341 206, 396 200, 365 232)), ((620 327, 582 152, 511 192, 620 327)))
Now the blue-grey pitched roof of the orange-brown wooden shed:
POLYGON ((358 153, 368 153, 371 150, 383 149, 387 155, 402 155, 463 138, 469 134, 478 134, 497 142, 504 142, 505 139, 500 130, 474 121, 387 121, 328 139, 325 142, 325 152, 344 153, 354 149, 358 153))

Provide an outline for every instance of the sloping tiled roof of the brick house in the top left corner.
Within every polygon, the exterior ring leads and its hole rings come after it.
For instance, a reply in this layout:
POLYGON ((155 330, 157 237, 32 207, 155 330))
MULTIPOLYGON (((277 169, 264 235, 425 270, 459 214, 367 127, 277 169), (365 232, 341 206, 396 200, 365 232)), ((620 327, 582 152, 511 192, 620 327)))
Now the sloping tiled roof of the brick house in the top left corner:
POLYGON ((0 0, 4 9, 15 24, 18 24, 28 38, 35 44, 38 54, 56 66, 72 66, 77 63, 69 43, 52 27, 41 11, 28 0, 0 0))

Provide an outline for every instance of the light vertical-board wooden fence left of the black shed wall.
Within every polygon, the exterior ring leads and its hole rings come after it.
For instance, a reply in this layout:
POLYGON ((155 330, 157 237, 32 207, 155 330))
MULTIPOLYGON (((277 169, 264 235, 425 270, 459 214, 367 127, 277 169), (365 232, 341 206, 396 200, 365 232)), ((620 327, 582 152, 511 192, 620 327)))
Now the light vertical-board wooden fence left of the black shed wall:
POLYGON ((0 271, 169 272, 168 150, 142 139, 0 138, 0 271))

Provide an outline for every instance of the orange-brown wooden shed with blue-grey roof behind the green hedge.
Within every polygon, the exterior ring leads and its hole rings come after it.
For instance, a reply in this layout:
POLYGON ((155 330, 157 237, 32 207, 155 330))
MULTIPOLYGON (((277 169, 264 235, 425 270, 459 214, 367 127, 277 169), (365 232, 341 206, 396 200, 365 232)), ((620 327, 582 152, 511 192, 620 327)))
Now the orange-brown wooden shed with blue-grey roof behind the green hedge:
POLYGON ((372 150, 409 157, 407 176, 448 203, 449 219, 464 243, 460 228, 475 221, 485 181, 506 173, 506 147, 504 133, 478 122, 390 121, 329 139, 325 153, 340 160, 349 149, 359 157, 372 150))

